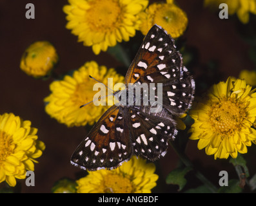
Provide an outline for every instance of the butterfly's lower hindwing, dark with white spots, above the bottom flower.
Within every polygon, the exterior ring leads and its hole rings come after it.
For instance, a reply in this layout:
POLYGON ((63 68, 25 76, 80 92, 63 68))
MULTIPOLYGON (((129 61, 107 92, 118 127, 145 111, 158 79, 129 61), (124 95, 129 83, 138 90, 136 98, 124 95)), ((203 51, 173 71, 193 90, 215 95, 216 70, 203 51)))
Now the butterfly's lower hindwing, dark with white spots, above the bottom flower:
POLYGON ((135 108, 130 108, 129 114, 133 153, 151 161, 164 156, 168 140, 177 133, 175 122, 170 118, 148 115, 135 108))

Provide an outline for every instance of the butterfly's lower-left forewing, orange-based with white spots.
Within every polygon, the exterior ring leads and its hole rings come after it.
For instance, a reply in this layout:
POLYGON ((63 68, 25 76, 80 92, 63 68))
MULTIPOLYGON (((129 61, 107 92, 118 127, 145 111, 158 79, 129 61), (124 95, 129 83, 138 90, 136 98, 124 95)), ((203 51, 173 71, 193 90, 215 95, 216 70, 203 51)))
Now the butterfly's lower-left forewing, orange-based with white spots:
POLYGON ((132 143, 126 108, 112 106, 75 149, 71 163, 86 169, 113 169, 130 160, 132 143))

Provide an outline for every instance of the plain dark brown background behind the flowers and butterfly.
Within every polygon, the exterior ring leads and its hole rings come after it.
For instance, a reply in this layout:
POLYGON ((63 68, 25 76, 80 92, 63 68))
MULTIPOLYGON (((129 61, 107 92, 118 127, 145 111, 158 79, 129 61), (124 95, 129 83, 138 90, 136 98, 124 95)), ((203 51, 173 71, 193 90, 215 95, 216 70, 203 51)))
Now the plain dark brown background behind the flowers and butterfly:
MULTIPOLYGON (((237 32, 241 23, 236 17, 221 20, 217 13, 202 8, 201 0, 177 0, 177 3, 188 15, 188 30, 183 39, 186 46, 195 49, 198 55, 198 61, 190 68, 196 84, 199 82, 198 93, 204 88, 200 84, 208 82, 210 86, 230 75, 237 77, 242 69, 253 69, 248 57, 250 46, 237 32), (211 61, 217 62, 216 71, 207 67, 211 61)), ((86 174, 70 165, 70 156, 88 133, 84 127, 68 128, 59 124, 44 112, 43 98, 49 95, 49 84, 53 79, 35 80, 20 70, 19 62, 25 48, 34 41, 52 42, 60 57, 55 70, 58 74, 77 69, 92 60, 108 68, 122 66, 108 53, 94 55, 91 48, 77 42, 77 37, 65 28, 66 15, 62 8, 66 4, 67 1, 63 0, 0 1, 0 113, 12 112, 32 121, 32 126, 39 129, 39 140, 46 144, 43 156, 38 159, 39 164, 35 164, 35 187, 26 187, 25 180, 18 180, 21 192, 50 192, 60 178, 76 179, 77 174, 86 174), (35 19, 26 19, 27 3, 34 3, 35 19)), ((255 151, 255 148, 252 145, 249 151, 255 151)), ((189 141, 187 154, 215 185, 219 182, 221 170, 228 170, 236 178, 227 160, 213 160, 213 156, 197 149, 196 141, 189 141)), ((177 192, 176 186, 164 183, 164 178, 176 164, 177 156, 172 149, 156 162, 160 178, 154 192, 177 192)), ((191 185, 198 185, 193 178, 193 175, 188 175, 191 185)))

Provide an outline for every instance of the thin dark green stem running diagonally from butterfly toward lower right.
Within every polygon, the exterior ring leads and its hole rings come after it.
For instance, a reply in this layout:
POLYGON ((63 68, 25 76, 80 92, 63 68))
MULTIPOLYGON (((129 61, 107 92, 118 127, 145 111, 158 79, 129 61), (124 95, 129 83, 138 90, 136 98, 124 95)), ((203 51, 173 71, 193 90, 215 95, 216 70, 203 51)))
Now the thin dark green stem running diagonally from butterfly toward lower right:
POLYGON ((201 180, 201 182, 204 183, 204 185, 206 185, 206 187, 208 187, 210 191, 212 191, 213 193, 217 192, 217 187, 215 187, 215 185, 213 185, 212 182, 210 182, 200 171, 197 171, 197 169, 193 167, 193 164, 188 158, 188 156, 186 156, 186 154, 181 152, 181 150, 177 147, 177 145, 175 145, 175 143, 172 140, 169 141, 169 143, 172 145, 175 153, 179 155, 179 158, 181 159, 183 164, 186 165, 187 167, 191 167, 195 172, 195 176, 199 180, 201 180))

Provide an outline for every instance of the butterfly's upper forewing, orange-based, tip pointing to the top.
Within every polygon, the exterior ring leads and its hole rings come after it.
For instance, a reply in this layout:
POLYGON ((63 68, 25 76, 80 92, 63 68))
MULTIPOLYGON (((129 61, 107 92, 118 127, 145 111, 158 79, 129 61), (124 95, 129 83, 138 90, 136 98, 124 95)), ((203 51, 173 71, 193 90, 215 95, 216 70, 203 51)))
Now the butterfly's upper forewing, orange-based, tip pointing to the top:
MULTIPOLYGON (((166 64, 169 68, 175 67, 175 64, 180 68, 182 66, 182 58, 179 52, 175 49, 172 37, 168 35, 159 26, 154 25, 146 37, 144 38, 137 55, 128 69, 125 77, 125 82, 135 83, 137 80, 150 79, 148 76, 152 73, 159 73, 166 64), (159 69, 160 68, 160 69, 159 69)), ((158 79, 159 82, 168 81, 168 78, 158 79)), ((154 79, 157 82, 157 79, 154 79)))

